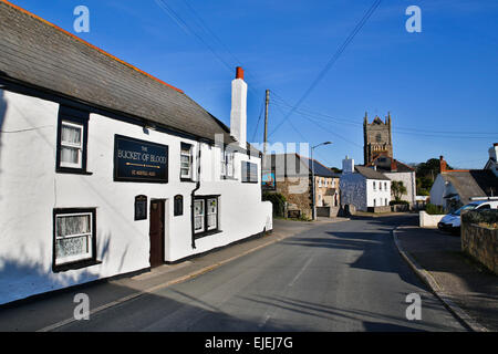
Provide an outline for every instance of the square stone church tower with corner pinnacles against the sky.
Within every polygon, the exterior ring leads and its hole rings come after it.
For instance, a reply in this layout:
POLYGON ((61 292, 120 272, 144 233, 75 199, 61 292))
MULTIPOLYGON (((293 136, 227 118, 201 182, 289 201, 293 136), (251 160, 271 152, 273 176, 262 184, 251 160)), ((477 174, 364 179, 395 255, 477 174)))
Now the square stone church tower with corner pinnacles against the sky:
POLYGON ((363 159, 365 165, 369 165, 378 156, 393 158, 391 137, 391 113, 387 113, 385 122, 375 116, 373 122, 369 123, 369 116, 365 112, 363 118, 363 159))

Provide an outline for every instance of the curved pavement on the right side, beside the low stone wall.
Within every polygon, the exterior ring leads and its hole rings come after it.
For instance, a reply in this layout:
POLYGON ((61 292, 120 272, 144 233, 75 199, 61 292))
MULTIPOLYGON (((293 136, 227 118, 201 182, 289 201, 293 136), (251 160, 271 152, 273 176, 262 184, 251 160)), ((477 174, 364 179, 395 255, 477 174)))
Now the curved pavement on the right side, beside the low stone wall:
POLYGON ((394 237, 402 256, 448 310, 474 331, 498 331, 498 275, 461 252, 459 236, 402 226, 394 237))

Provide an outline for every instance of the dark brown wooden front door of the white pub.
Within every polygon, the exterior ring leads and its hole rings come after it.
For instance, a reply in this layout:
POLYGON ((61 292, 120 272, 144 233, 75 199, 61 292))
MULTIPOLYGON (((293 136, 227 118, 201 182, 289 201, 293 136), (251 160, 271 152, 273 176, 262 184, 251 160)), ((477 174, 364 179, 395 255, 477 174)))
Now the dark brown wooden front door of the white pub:
POLYGON ((151 200, 151 267, 164 262, 164 200, 151 200))

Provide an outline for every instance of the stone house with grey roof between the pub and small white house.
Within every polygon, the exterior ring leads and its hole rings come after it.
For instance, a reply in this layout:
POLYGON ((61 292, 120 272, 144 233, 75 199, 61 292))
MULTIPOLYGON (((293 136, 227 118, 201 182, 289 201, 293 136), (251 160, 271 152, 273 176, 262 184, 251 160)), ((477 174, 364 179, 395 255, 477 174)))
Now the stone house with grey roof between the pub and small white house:
POLYGON ((340 209, 340 189, 338 174, 317 159, 311 160, 300 154, 272 154, 271 170, 274 173, 274 189, 282 194, 291 214, 312 218, 313 191, 311 188, 312 168, 317 216, 335 217, 340 209))

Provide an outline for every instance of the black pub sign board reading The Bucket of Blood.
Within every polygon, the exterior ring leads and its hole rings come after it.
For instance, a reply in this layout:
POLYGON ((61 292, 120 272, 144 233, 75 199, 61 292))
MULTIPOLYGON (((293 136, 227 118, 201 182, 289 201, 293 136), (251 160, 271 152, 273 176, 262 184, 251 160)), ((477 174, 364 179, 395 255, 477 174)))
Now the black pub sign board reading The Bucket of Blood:
POLYGON ((166 184, 168 146, 114 135, 114 180, 166 184))

